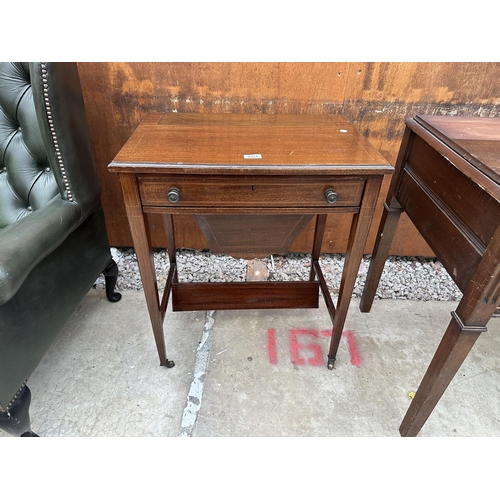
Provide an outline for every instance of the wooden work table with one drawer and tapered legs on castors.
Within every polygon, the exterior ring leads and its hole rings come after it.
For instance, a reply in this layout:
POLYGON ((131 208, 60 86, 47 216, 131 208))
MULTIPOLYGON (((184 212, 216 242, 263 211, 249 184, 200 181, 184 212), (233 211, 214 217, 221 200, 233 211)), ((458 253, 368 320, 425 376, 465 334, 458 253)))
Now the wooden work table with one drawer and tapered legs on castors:
POLYGON ((340 115, 154 113, 113 162, 119 174, 160 364, 173 311, 318 307, 333 321, 333 368, 384 175, 394 169, 340 115), (337 307, 318 259, 328 214, 353 214, 337 307), (162 214, 170 271, 159 296, 147 214, 162 214), (285 252, 316 216, 309 280, 179 282, 175 214, 191 214, 210 249, 234 256, 285 252))

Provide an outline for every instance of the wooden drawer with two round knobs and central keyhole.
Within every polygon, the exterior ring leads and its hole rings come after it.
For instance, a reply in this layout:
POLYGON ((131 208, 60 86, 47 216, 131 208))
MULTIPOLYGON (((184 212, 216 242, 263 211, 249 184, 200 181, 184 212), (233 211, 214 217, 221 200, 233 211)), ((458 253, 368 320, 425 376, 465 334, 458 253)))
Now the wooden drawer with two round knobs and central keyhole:
POLYGON ((357 207, 363 178, 139 177, 145 206, 357 207))

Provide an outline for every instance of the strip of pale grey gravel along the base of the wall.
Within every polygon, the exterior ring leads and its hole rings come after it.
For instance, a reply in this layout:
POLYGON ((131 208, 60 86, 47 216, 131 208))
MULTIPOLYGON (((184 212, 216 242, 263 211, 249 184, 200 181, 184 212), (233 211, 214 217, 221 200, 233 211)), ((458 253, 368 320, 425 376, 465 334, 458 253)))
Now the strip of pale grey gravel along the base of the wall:
MULTIPOLYGON (((142 290, 139 267, 133 248, 111 248, 118 265, 116 288, 142 290)), ((267 262, 268 280, 307 280, 311 255, 289 253, 284 256, 269 256, 267 262)), ((247 261, 234 259, 228 255, 216 255, 205 250, 178 250, 176 255, 180 282, 230 282, 245 281, 247 261)), ((165 250, 154 252, 158 286, 162 289, 170 267, 165 250)), ((333 297, 338 295, 344 265, 343 254, 322 254, 320 265, 328 288, 333 297)), ((370 256, 361 263, 353 297, 361 297, 370 265, 370 256)), ((104 288, 104 278, 100 276, 94 288, 104 288)), ((442 264, 433 258, 394 257, 387 259, 377 289, 377 299, 402 300, 460 300, 462 294, 442 264)))

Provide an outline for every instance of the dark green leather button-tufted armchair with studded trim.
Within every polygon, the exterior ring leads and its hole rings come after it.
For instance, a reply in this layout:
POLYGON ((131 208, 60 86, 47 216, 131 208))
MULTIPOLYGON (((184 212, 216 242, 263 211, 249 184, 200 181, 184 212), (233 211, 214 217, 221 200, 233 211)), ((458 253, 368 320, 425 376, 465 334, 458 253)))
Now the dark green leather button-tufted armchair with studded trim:
POLYGON ((112 260, 76 63, 0 63, 0 429, 36 435, 28 377, 112 260))

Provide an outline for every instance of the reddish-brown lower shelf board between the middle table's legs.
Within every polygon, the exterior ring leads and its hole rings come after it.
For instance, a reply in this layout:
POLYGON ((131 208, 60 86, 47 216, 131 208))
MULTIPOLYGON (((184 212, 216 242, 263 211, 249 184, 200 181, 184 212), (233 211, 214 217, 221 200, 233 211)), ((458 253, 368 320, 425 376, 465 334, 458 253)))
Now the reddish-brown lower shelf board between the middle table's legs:
POLYGON ((317 307, 317 281, 172 284, 173 311, 317 307))

